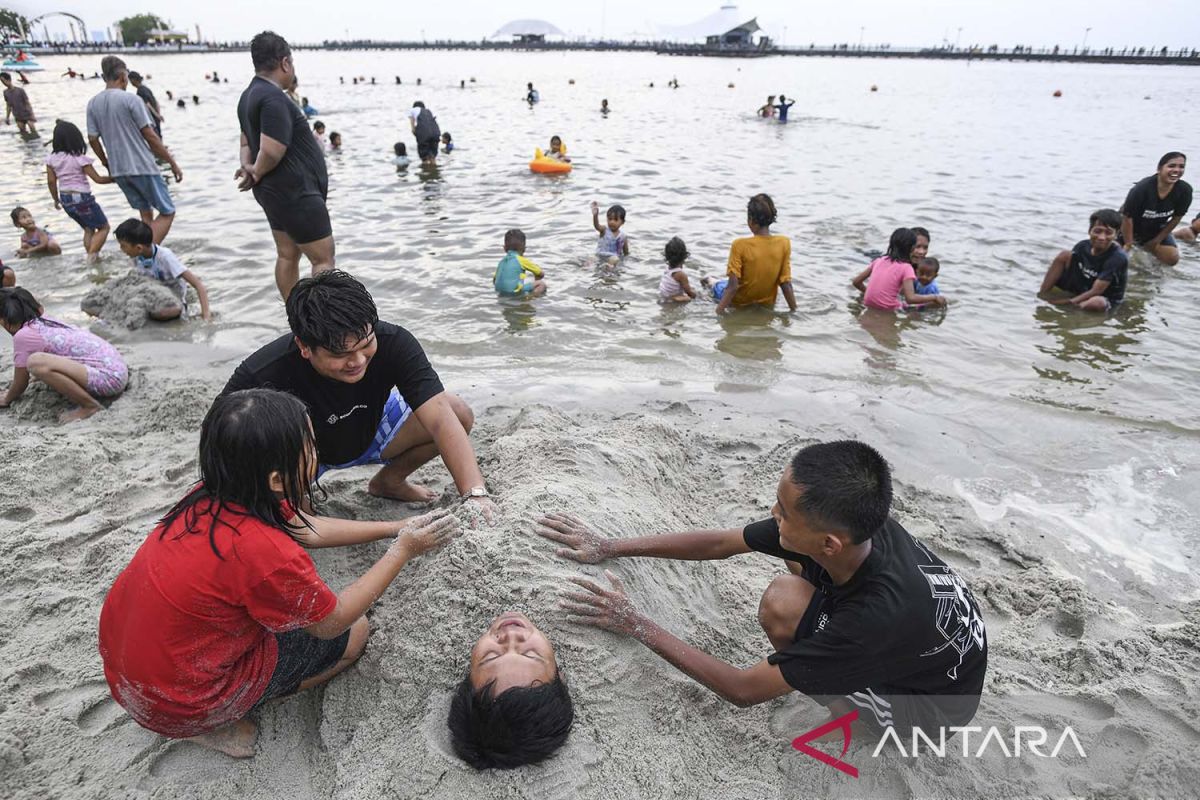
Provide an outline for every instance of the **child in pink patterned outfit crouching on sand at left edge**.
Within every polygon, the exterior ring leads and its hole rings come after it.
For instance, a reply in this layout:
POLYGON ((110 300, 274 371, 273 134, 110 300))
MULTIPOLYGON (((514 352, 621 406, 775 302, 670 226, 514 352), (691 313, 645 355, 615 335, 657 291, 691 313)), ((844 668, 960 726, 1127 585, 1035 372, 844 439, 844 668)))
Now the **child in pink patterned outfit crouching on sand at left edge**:
POLYGON ((12 383, 0 408, 24 395, 30 378, 78 407, 60 414, 59 422, 86 420, 103 408, 97 398, 125 391, 130 371, 116 348, 95 333, 43 317, 26 289, 0 289, 0 327, 12 335, 13 350, 12 383))

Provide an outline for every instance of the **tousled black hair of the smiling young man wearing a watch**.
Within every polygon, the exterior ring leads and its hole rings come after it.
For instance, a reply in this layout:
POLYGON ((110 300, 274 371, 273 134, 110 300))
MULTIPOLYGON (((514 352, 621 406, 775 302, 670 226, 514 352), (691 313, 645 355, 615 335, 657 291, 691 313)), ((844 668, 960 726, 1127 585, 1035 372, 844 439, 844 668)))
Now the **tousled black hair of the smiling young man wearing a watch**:
POLYGON ((341 353, 346 339, 358 342, 379 321, 371 293, 342 270, 301 278, 284 302, 292 333, 307 347, 341 353))

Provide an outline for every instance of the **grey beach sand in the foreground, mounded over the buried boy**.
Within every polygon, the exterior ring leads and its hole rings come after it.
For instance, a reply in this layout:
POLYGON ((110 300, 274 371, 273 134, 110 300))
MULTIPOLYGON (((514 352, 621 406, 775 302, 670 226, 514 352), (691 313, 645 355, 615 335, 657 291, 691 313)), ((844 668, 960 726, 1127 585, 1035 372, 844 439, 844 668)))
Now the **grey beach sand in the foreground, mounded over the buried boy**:
MULTIPOLYGON (((720 422, 728 408, 682 403, 608 416, 534 407, 520 421, 511 409, 476 409, 473 439, 504 511, 500 524, 410 564, 371 612, 372 639, 359 664, 324 690, 263 711, 254 759, 169 742, 138 728, 108 697, 96 620, 154 519, 193 480, 196 432, 221 379, 151 372, 91 421, 58 428, 22 417, 7 435, 13 456, 0 463, 7 796, 757 800, 1127 796, 1130 786, 1184 796, 1200 780, 1187 756, 1200 745, 1195 603, 1186 621, 1157 625, 1091 596, 1007 530, 974 522, 961 501, 911 486, 898 486, 898 516, 962 571, 989 625, 980 720, 1018 708, 1025 723, 1073 724, 1086 759, 872 760, 871 748, 856 742, 846 758, 862 774, 850 778, 791 748, 826 718, 810 700, 793 694, 737 709, 636 642, 562 621, 566 577, 599 576, 601 567, 557 559, 530 533, 539 513, 574 511, 608 535, 739 524, 767 515, 779 469, 805 443, 770 420, 744 420, 730 435, 720 422), (508 608, 528 613, 556 643, 577 721, 550 763, 476 774, 450 753, 449 694, 470 643, 508 608), (1030 699, 1045 691, 1063 697, 1030 699)), ((414 513, 370 498, 370 474, 332 474, 324 511, 414 513)), ((448 482, 439 463, 422 476, 448 482)), ((317 551, 314 560, 341 589, 383 547, 317 551)), ((606 566, 624 577, 635 603, 685 640, 740 666, 768 652, 755 615, 779 563, 745 555, 606 566)))

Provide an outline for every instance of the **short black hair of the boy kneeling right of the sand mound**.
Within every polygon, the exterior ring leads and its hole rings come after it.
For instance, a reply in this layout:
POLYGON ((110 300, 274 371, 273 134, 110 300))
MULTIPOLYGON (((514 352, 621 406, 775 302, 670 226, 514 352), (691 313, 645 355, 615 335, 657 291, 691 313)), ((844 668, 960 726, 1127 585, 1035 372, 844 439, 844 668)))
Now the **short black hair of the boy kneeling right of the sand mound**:
POLYGON ((850 440, 809 445, 792 458, 791 479, 800 489, 796 511, 821 528, 846 534, 854 545, 888 521, 892 470, 870 445, 850 440))

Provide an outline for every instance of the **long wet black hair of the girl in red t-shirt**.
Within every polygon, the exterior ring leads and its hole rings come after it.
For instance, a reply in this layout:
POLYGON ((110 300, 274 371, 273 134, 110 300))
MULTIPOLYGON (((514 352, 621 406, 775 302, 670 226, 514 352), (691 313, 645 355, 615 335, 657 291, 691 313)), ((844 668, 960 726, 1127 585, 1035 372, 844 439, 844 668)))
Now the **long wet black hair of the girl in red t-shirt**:
POLYGON ((307 519, 290 522, 292 515, 312 500, 317 441, 302 401, 271 389, 246 389, 221 395, 200 426, 200 482, 162 518, 161 540, 167 529, 184 518, 175 539, 208 534, 217 558, 218 525, 239 535, 239 522, 257 519, 294 536, 308 528, 307 519), (271 491, 271 475, 283 485, 281 499, 271 491), (210 515, 206 529, 199 515, 210 515))

